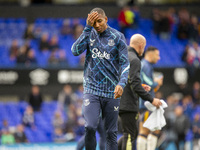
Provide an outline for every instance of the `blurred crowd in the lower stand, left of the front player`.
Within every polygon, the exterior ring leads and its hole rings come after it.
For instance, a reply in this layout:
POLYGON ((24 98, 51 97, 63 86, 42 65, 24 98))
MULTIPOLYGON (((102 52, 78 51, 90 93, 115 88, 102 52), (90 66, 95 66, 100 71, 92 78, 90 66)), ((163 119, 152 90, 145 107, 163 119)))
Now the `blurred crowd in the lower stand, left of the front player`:
MULTIPOLYGON (((8 120, 3 120, 2 126, 0 126, 1 144, 29 142, 24 129, 37 130, 35 113, 41 112, 43 97, 40 87, 37 85, 32 86, 28 95, 28 106, 24 110, 20 110, 20 113, 22 113, 21 123, 17 126, 9 126, 8 120)), ((82 97, 82 85, 76 91, 72 90, 71 85, 65 85, 58 93, 57 108, 53 112, 54 115, 51 116, 53 130, 50 133, 52 141, 58 143, 75 141, 77 137, 84 134, 85 122, 81 109, 82 97)))

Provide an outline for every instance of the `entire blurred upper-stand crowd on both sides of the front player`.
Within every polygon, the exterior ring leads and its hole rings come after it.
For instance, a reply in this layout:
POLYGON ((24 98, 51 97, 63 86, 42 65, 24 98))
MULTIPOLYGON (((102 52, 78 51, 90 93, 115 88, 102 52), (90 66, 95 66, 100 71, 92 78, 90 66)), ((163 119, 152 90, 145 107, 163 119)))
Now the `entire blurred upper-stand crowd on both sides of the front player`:
MULTIPOLYGON (((128 38, 127 32, 138 29, 140 26, 140 11, 137 6, 124 6, 118 14, 115 28, 119 29, 128 38)), ((154 8, 151 14, 152 32, 161 40, 169 40, 175 37, 183 43, 193 45, 193 42, 200 42, 200 22, 198 16, 191 14, 186 8, 175 10, 170 7, 167 10, 154 8)), ((108 21, 109 23, 109 21, 108 21)), ((54 34, 51 30, 44 30, 42 24, 36 23, 27 25, 24 33, 23 42, 14 39, 9 48, 9 61, 18 65, 23 64, 26 67, 37 66, 41 61, 40 56, 47 58, 48 66, 70 66, 74 58, 70 55, 73 42, 83 31, 84 23, 78 19, 64 19, 56 27, 54 34)), ((51 26, 51 25, 49 25, 51 26)), ((53 25, 52 25, 53 26, 53 25)), ((151 26, 151 25, 150 25, 151 26)), ((54 30, 52 29, 52 30, 54 30)), ((137 30, 136 30, 137 31, 137 30)), ((156 45, 155 45, 156 46, 156 45)), ((189 46, 186 46, 186 49, 189 46)), ((190 46, 191 47, 191 46, 190 46)), ((198 50, 199 51, 199 50, 198 50)), ((186 52, 187 53, 187 52, 186 52)), ((199 52, 191 52, 197 55, 199 61, 199 52)), ((189 56, 190 57, 190 56, 189 56)), ((82 67, 84 57, 78 58, 78 65, 82 67)), ((74 58, 74 59, 77 59, 74 58)), ((189 58, 190 59, 190 58, 189 58)), ((187 64, 192 64, 191 60, 184 60, 187 64)), ((73 63, 72 63, 73 64, 73 63)), ((195 66, 196 63, 195 63, 195 66)))

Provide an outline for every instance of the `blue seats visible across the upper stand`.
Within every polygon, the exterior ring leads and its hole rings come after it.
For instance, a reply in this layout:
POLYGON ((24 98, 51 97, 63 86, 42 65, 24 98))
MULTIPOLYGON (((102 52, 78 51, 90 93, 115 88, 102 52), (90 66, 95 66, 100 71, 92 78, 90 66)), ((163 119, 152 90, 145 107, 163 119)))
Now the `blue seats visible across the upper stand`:
MULTIPOLYGON (((6 20, 6 19, 5 19, 6 20)), ((16 21, 14 19, 10 19, 13 21, 16 21)), ((70 24, 73 23, 74 20, 73 18, 69 18, 70 24)), ((42 32, 49 32, 50 35, 60 35, 60 28, 58 25, 61 25, 64 21, 64 18, 38 18, 35 21, 35 25, 37 27, 41 27, 42 32)), ((82 24, 85 24, 85 19, 80 18, 78 19, 79 22, 82 24)), ((0 19, 0 23, 1 23, 0 19)), ((7 22, 12 22, 8 21, 7 22)), ((109 25, 114 27, 114 28, 119 28, 118 26, 118 21, 117 19, 109 18, 108 21, 109 25)), ((171 40, 161 40, 159 39, 154 33, 152 33, 152 27, 153 23, 150 19, 140 19, 138 28, 131 28, 126 30, 126 38, 129 39, 134 33, 141 33, 147 38, 147 46, 153 45, 156 46, 160 49, 161 53, 161 60, 158 62, 157 66, 181 66, 183 65, 183 62, 181 61, 181 54, 184 50, 185 44, 177 40, 175 36, 171 37, 171 40)), ((1 32, 0 30, 0 39, 2 44, 8 46, 10 45, 10 42, 4 41, 5 39, 13 39, 13 38, 22 38, 24 34, 24 29, 23 30, 17 30, 12 32, 12 30, 4 30, 1 32)), ((65 49, 67 56, 66 58, 68 59, 68 62, 70 65, 73 64, 78 64, 79 63, 79 58, 78 57, 73 57, 73 55, 70 52, 71 45, 74 42, 74 40, 69 36, 69 37, 62 37, 59 36, 60 40, 60 46, 62 49, 65 49)), ((0 42, 1 43, 1 42, 0 42)), ((1 45, 1 44, 0 44, 1 45)), ((40 66, 47 66, 48 65, 48 58, 50 56, 50 53, 40 53, 38 52, 38 43, 32 44, 33 48, 36 50, 36 58, 38 61, 38 64, 40 66)), ((9 56, 8 53, 5 52, 5 49, 0 47, 2 50, 2 54, 0 55, 0 58, 3 59, 0 61, 0 65, 13 65, 15 62, 10 62, 9 59, 7 59, 9 56), (6 59, 6 60, 5 60, 6 59)), ((7 47, 8 49, 8 47, 7 47)))

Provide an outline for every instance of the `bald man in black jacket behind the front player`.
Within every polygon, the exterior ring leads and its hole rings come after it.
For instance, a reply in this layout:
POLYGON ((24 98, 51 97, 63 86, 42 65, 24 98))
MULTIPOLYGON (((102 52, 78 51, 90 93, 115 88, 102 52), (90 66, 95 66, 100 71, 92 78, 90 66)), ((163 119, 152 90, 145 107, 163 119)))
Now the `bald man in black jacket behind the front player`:
POLYGON ((130 39, 130 46, 128 47, 128 58, 130 61, 129 77, 119 107, 123 136, 118 141, 118 150, 135 149, 135 139, 138 134, 139 97, 151 102, 156 107, 161 105, 159 99, 153 98, 147 92, 150 90, 150 86, 142 86, 141 84, 140 56, 144 52, 145 45, 146 39, 141 34, 134 34, 130 39))

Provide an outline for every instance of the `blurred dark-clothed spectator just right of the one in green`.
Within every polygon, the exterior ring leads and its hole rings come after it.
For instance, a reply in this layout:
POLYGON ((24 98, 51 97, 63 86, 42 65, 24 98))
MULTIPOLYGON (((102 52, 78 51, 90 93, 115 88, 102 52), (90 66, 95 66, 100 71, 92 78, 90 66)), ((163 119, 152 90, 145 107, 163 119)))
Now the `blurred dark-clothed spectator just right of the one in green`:
POLYGON ((17 126, 16 132, 14 133, 15 141, 16 143, 27 143, 27 137, 24 133, 24 126, 22 124, 19 124, 17 126))

